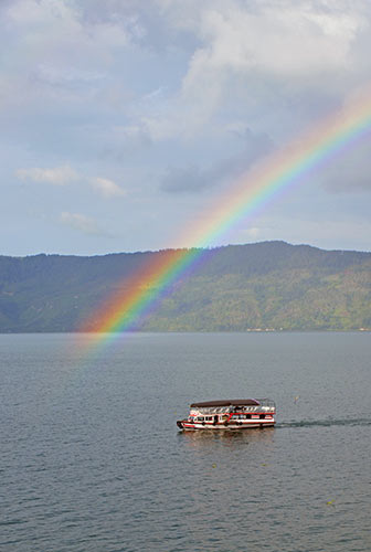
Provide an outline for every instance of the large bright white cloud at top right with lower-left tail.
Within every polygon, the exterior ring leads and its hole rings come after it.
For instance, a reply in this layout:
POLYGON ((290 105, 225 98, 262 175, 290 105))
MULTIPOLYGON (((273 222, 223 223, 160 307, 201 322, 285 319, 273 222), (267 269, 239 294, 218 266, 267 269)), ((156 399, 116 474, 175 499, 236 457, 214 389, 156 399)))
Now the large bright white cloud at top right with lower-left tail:
POLYGON ((348 0, 158 0, 179 32, 198 40, 167 112, 146 117, 152 137, 194 136, 230 105, 289 107, 343 97, 370 79, 371 8, 348 0))

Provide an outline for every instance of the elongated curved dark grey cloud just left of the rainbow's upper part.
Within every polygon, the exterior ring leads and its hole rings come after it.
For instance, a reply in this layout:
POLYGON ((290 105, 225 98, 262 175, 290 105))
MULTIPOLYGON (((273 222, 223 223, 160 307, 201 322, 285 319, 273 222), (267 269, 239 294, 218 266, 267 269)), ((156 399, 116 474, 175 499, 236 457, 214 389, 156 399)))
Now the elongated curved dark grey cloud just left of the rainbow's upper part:
POLYGON ((161 190, 170 193, 203 192, 240 177, 273 150, 273 141, 266 134, 254 135, 248 128, 237 134, 244 146, 239 155, 204 169, 195 166, 171 167, 162 178, 161 190))

